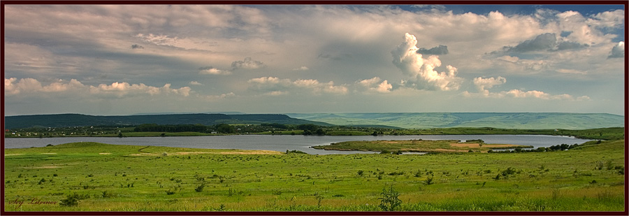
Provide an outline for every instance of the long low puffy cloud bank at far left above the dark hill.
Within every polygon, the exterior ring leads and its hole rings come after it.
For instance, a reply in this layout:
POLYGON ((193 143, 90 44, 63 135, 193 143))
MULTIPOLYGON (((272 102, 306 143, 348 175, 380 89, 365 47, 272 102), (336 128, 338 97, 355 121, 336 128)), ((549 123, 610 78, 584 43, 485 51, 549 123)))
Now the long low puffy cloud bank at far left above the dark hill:
POLYGON ((191 92, 190 87, 173 89, 171 88, 170 83, 166 83, 163 87, 153 87, 143 83, 129 84, 129 82, 113 82, 111 85, 100 84, 98 86, 93 86, 83 85, 75 79, 69 81, 56 80, 49 85, 42 85, 41 82, 34 78, 23 78, 19 81, 17 81, 17 78, 5 78, 4 87, 5 94, 7 96, 42 92, 68 92, 74 94, 89 93, 102 96, 113 95, 118 97, 138 94, 178 94, 182 96, 189 96, 191 92))

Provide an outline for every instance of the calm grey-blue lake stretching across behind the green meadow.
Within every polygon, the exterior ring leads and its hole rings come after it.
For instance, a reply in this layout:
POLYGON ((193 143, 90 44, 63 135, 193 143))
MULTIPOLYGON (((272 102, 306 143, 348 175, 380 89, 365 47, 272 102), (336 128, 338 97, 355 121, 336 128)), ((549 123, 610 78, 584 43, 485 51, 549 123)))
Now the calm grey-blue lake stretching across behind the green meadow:
POLYGON ((373 154, 375 152, 315 150, 315 145, 329 145, 343 141, 378 140, 474 140, 485 143, 533 145, 549 147, 559 144, 585 143, 586 139, 548 135, 412 135, 412 136, 303 136, 303 135, 233 135, 233 136, 171 136, 171 137, 59 137, 59 138, 5 138, 4 148, 44 147, 74 142, 97 142, 115 145, 154 145, 241 150, 300 150, 308 154, 373 154))

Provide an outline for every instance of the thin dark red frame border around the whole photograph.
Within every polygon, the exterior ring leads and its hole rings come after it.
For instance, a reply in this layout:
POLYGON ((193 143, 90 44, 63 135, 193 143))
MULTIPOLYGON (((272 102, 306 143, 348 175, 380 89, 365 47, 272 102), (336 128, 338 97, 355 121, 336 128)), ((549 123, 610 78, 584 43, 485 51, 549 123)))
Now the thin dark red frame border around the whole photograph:
MULTIPOLYGON (((120 0, 114 0, 114 1, 102 1, 102 0, 97 0, 97 1, 81 1, 81 0, 76 0, 76 1, 68 1, 68 0, 63 0, 63 1, 41 1, 41 0, 36 0, 36 1, 0 1, 0 6, 1 6, 1 11, 0 11, 0 34, 1 34, 1 38, 0 41, 2 43, 2 48, 0 52, 0 58, 1 58, 1 62, 0 62, 0 67, 2 70, 2 73, 0 75, 0 77, 2 79, 5 78, 4 76, 4 66, 5 66, 5 62, 4 62, 4 17, 5 17, 5 5, 13 5, 13 4, 164 4, 164 3, 171 3, 171 4, 347 4, 347 5, 366 5, 366 4, 382 4, 382 5, 392 5, 392 4, 397 4, 397 5, 407 5, 407 4, 444 4, 444 5, 448 5, 448 4, 469 4, 469 5, 482 5, 482 4, 507 4, 507 5, 515 5, 515 4, 521 4, 521 5, 534 5, 534 4, 540 4, 540 5, 549 5, 549 4, 564 4, 564 5, 586 5, 586 4, 595 4, 595 5, 605 5, 605 4, 615 4, 615 5, 624 5, 625 6, 625 28, 627 27, 628 24, 628 14, 627 14, 627 6, 629 5, 629 1, 584 1, 584 0, 554 0, 554 1, 540 1, 540 0, 518 0, 518 1, 487 1, 487 0, 483 0, 483 1, 473 1, 473 0, 468 0, 468 1, 461 1, 461 0, 454 0, 454 1, 449 1, 449 0, 442 0, 442 1, 400 1, 400 0, 393 0, 393 1, 382 1, 382 0, 366 0, 366 1, 360 1, 360 0, 345 0, 345 1, 329 1, 329 0, 324 0, 324 1, 313 1, 313 0, 305 0, 305 1, 295 1, 295 0, 285 0, 285 1, 268 1, 268 0, 260 0, 260 1, 256 1, 256 0, 248 0, 248 1, 226 1, 226 0, 221 0, 221 1, 189 1, 189 0, 184 0, 184 1, 166 1, 166 0, 131 0, 131 1, 120 1, 120 0)), ((626 30, 626 29, 625 29, 626 30)), ((625 34, 625 50, 627 50, 628 45, 627 45, 627 34, 625 34)), ((626 51, 625 51, 626 53, 626 51)), ((624 80, 625 80, 625 87, 624 87, 624 93, 625 93, 625 97, 624 97, 624 104, 625 104, 625 134, 628 134, 627 132, 629 131, 629 129, 627 128, 627 122, 629 120, 629 100, 628 100, 628 93, 629 93, 629 70, 628 70, 628 55, 625 55, 624 61, 625 61, 625 73, 624 73, 624 80)), ((2 96, 2 104, 0 105, 0 112, 2 113, 2 118, 0 119, 0 128, 2 129, 2 131, 4 131, 4 85, 2 85, 0 87, 1 89, 1 96, 2 96)), ((1 141, 1 149, 0 152, 2 153, 1 159, 2 159, 2 173, 0 173, 0 176, 2 179, 4 179, 4 132, 0 135, 2 138, 1 141)), ((625 141, 626 142, 626 141, 625 141)), ((627 150, 627 146, 625 147, 625 169, 628 168, 629 166, 629 161, 626 159, 627 156, 629 156, 628 154, 628 150, 627 150)), ((2 187, 0 187, 0 194, 3 197, 3 204, 0 206, 0 215, 629 215, 629 210, 627 209, 628 207, 628 200, 627 200, 627 196, 629 195, 629 189, 627 188, 627 183, 628 183, 628 179, 625 177, 625 210, 623 212, 6 212, 5 208, 4 208, 4 181, 2 181, 2 187)))

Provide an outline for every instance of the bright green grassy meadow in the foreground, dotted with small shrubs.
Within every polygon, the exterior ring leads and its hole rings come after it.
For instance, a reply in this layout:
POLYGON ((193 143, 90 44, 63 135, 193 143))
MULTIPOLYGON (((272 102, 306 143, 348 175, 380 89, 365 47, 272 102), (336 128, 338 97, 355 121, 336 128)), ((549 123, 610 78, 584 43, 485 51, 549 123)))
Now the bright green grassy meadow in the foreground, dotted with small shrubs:
POLYGON ((380 211, 397 197, 398 211, 624 211, 624 151, 624 140, 557 152, 426 155, 68 143, 6 149, 4 207, 380 211))

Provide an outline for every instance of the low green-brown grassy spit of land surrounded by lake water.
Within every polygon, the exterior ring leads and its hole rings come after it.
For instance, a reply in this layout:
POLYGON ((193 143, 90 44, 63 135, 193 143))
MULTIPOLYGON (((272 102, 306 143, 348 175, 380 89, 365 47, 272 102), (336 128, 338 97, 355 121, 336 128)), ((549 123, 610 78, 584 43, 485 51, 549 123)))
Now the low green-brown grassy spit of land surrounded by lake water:
POLYGON ((459 141, 439 140, 439 141, 347 141, 331 143, 331 145, 319 145, 313 148, 322 150, 341 151, 372 151, 382 152, 487 152, 495 149, 508 149, 516 147, 533 147, 531 145, 511 145, 511 144, 486 144, 483 142, 459 143, 459 141))

